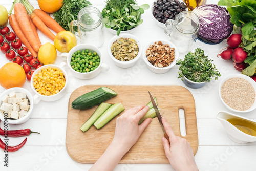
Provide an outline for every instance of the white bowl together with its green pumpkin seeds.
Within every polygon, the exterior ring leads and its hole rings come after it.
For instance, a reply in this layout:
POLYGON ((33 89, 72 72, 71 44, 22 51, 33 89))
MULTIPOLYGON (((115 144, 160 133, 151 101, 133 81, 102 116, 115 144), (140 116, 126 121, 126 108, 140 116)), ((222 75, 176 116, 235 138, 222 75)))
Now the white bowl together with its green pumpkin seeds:
POLYGON ((142 45, 138 37, 121 33, 112 37, 108 44, 108 53, 115 65, 129 68, 135 65, 142 54, 142 45))

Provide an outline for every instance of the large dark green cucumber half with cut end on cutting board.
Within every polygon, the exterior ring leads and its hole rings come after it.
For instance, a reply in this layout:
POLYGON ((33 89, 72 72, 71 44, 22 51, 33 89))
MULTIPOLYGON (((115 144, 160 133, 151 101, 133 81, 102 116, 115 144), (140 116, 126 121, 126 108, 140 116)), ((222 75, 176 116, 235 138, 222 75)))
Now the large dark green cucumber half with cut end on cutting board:
POLYGON ((114 90, 107 87, 101 87, 77 97, 71 105, 73 109, 88 109, 116 95, 117 93, 114 90))

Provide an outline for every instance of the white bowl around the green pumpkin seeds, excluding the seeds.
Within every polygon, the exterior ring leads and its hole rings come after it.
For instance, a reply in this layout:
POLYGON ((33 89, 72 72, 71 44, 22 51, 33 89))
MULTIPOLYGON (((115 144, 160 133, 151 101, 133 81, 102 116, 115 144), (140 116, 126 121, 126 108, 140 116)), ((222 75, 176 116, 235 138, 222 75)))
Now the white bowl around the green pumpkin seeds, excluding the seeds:
POLYGON ((142 45, 138 39, 138 37, 132 35, 132 34, 119 34, 119 36, 115 35, 114 37, 112 37, 109 41, 109 44, 108 44, 108 53, 109 53, 109 56, 110 58, 114 61, 115 65, 117 65, 118 67, 121 67, 121 68, 129 68, 129 67, 132 67, 133 65, 135 65, 135 63, 139 60, 141 54, 142 54, 142 45), (138 47, 139 47, 139 52, 138 52, 138 55, 130 60, 130 61, 121 61, 121 60, 118 60, 116 59, 113 54, 111 53, 111 50, 110 50, 110 47, 112 46, 113 42, 116 41, 117 38, 132 38, 136 41, 138 47))

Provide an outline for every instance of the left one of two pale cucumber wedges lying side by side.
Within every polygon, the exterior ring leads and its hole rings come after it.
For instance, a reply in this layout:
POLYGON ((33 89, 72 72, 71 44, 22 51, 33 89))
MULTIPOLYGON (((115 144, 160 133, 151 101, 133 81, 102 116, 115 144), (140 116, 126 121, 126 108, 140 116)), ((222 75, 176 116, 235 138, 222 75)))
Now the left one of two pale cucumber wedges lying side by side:
POLYGON ((80 127, 80 130, 86 132, 92 124, 111 106, 109 103, 100 103, 92 116, 80 127))

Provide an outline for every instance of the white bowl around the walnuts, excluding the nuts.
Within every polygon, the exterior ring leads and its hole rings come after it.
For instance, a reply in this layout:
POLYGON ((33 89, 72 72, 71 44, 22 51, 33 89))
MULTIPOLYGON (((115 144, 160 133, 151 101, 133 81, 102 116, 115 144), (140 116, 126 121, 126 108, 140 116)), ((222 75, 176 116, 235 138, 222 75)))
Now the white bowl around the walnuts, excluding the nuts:
POLYGON ((176 62, 177 60, 179 59, 179 51, 177 49, 177 47, 170 41, 167 41, 167 40, 155 40, 155 41, 151 41, 149 42, 143 49, 143 52, 142 52, 142 58, 143 60, 145 61, 146 65, 147 65, 147 68, 150 69, 152 72, 156 73, 156 74, 163 74, 163 73, 166 73, 168 72, 173 66, 176 65, 176 62), (158 42, 158 41, 162 41, 163 45, 166 45, 168 44, 170 48, 175 48, 174 50, 174 54, 175 54, 175 59, 174 61, 167 67, 155 67, 154 65, 152 65, 148 60, 147 60, 147 57, 146 57, 146 50, 147 48, 150 47, 150 45, 154 45, 155 42, 158 42))

